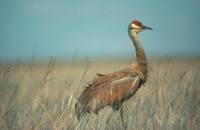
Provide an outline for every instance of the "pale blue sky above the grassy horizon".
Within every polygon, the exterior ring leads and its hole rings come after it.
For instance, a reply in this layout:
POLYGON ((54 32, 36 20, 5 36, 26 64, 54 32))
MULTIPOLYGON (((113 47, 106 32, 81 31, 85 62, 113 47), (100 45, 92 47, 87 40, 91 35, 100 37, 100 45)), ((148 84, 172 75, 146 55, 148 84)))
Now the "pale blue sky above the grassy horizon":
POLYGON ((146 53, 200 55, 199 0, 1 0, 0 59, 130 57, 133 19, 146 53))

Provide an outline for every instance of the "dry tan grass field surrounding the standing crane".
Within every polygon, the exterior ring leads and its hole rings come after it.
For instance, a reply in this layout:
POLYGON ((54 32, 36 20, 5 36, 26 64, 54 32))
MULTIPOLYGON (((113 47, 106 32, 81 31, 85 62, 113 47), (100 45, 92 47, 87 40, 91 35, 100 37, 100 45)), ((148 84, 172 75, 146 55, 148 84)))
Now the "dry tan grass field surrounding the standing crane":
MULTIPOLYGON (((1 130, 121 130, 120 116, 105 107, 99 115, 74 115, 76 98, 95 73, 130 62, 1 64, 1 130)), ((150 61, 149 78, 124 103, 129 130, 199 130, 200 60, 150 61)))

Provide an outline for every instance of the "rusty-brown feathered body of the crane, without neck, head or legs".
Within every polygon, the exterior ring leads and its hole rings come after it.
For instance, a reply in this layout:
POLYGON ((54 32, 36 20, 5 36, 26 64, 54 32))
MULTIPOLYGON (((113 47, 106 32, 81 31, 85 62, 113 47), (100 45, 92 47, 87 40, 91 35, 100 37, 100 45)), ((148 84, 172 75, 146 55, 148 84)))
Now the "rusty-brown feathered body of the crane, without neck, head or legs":
POLYGON ((98 113, 105 106, 112 106, 116 109, 115 104, 122 104, 123 101, 133 96, 141 86, 142 78, 132 67, 106 75, 97 74, 78 98, 75 107, 78 118, 86 112, 98 113), (139 77, 139 80, 132 86, 135 77, 139 77), (122 81, 125 78, 127 80, 122 81))

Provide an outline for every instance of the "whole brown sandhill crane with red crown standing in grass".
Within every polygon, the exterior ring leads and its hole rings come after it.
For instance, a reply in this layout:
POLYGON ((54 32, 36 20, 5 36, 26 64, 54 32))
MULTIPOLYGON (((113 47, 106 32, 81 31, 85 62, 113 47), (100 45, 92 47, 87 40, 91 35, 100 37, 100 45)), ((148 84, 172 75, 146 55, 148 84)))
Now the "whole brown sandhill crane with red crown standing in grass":
POLYGON ((147 80, 148 62, 138 39, 138 33, 147 29, 152 30, 138 20, 129 24, 128 33, 135 46, 136 63, 110 74, 97 74, 94 80, 87 84, 75 104, 78 119, 85 113, 98 114, 100 109, 111 106, 113 111, 119 111, 122 125, 126 128, 122 104, 147 80))

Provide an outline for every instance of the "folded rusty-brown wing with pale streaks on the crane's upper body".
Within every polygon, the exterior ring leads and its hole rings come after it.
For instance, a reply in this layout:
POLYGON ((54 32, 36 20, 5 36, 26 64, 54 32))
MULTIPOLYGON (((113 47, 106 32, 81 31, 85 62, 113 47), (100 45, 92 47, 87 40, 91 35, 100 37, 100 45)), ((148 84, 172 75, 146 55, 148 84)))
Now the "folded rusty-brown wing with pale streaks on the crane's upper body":
POLYGON ((112 93, 116 96, 127 97, 126 95, 133 93, 134 89, 140 85, 141 78, 130 68, 110 74, 97 74, 95 79, 87 84, 81 98, 91 98, 95 95, 109 97, 113 96, 112 93))

